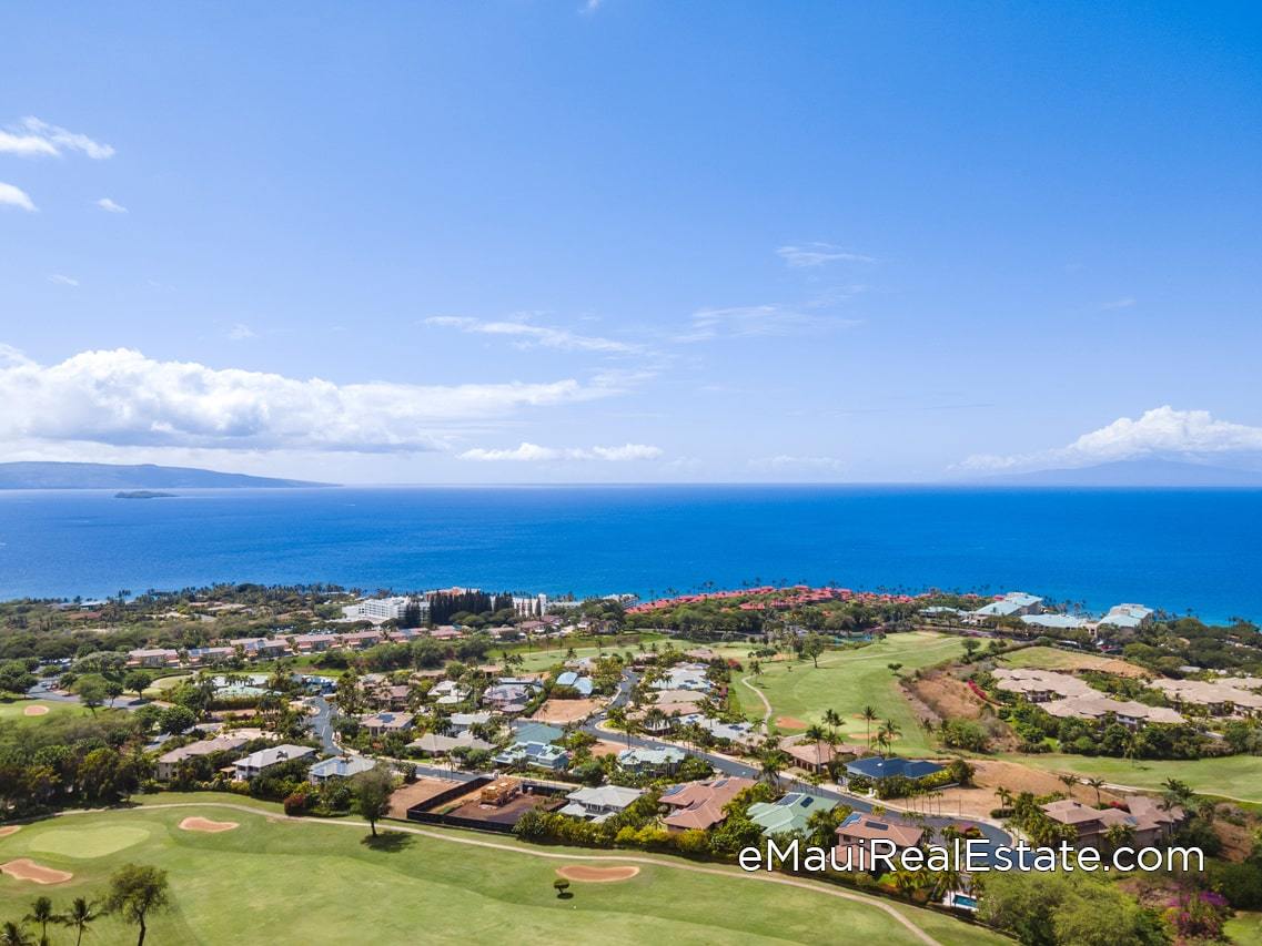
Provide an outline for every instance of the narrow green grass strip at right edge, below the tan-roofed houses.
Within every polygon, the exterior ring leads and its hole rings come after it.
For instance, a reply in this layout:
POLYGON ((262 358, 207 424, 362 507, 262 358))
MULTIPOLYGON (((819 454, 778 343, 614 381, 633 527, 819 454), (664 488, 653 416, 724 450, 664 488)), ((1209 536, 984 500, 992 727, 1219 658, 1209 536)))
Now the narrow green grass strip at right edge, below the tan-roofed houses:
POLYGON ((1069 756, 1049 753, 1046 756, 1007 754, 1005 758, 1035 768, 1053 772, 1076 772, 1082 776, 1097 776, 1117 785, 1129 785, 1136 788, 1161 790, 1167 778, 1177 778, 1201 795, 1219 795, 1262 803, 1262 757, 1227 756, 1217 759, 1191 761, 1153 761, 1069 756))

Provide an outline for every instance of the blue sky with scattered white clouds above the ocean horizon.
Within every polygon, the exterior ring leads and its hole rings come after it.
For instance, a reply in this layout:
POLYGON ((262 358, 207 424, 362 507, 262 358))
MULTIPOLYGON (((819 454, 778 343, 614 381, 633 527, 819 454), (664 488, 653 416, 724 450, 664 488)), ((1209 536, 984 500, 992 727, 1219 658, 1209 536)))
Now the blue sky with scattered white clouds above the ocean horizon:
POLYGON ((32 3, 0 33, 0 459, 1259 465, 1256 5, 32 3))

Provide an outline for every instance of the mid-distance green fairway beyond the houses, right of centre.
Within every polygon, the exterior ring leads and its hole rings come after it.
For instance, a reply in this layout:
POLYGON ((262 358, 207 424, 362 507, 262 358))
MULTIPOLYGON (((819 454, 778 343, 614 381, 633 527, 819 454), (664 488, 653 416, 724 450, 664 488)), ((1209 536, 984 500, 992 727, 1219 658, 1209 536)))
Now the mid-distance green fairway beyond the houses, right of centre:
MULTIPOLYGON (((748 667, 745 657, 748 647, 742 651, 742 662, 748 667)), ((858 714, 864 706, 872 706, 880 719, 892 719, 902 729, 902 738, 895 743, 897 752, 926 752, 930 745, 887 665, 901 663, 900 672, 905 674, 963 652, 959 637, 916 631, 890 634, 857 650, 828 651, 820 656, 818 669, 809 660, 762 661, 762 676, 751 682, 771 703, 772 719, 790 716, 804 724, 819 723, 824 710, 834 709, 846 718, 844 738, 862 743, 866 727, 858 714)), ((740 682, 733 686, 745 713, 761 718, 765 709, 750 687, 740 682)), ((781 725, 780 729, 793 733, 801 727, 781 725)))

